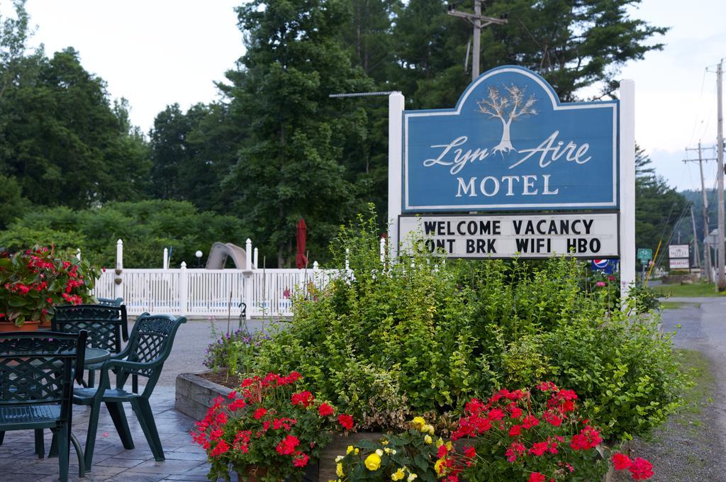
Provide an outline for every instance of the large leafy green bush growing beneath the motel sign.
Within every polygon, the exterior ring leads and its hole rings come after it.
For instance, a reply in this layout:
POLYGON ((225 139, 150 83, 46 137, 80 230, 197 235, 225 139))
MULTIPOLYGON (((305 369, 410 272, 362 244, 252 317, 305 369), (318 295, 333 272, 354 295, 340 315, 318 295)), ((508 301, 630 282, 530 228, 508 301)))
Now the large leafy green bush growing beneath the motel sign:
MULTIPOLYGON (((249 360, 303 373, 362 428, 404 428, 410 414, 444 427, 472 397, 554 380, 582 393, 603 436, 647 432, 678 404, 684 380, 656 324, 588 290, 579 261, 380 262, 373 221, 340 230, 333 258, 350 271, 298 297, 295 316, 249 360)), ((245 362, 246 363, 246 362, 245 362)))

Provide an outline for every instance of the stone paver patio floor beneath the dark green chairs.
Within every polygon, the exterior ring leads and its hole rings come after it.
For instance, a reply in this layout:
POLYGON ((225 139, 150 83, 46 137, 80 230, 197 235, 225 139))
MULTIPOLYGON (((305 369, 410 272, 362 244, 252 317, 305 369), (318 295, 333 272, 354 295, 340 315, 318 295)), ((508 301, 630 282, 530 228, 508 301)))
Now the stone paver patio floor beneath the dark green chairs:
MULTIPOLYGON (((94 450, 93 469, 85 478, 78 478, 78 459, 70 449, 69 481, 207 481, 208 466, 202 449, 193 444, 189 430, 194 420, 174 410, 174 388, 158 386, 151 397, 159 437, 166 460, 156 462, 152 457, 144 433, 126 404, 126 417, 136 448, 126 450, 118 438, 105 406, 99 418, 98 438, 94 450)), ((73 433, 86 444, 88 414, 86 407, 73 407, 73 433)), ((46 430, 46 455, 50 449, 51 435, 46 430)), ((7 432, 0 445, 0 481, 3 482, 52 482, 58 480, 58 459, 38 459, 34 453, 33 431, 7 432)))

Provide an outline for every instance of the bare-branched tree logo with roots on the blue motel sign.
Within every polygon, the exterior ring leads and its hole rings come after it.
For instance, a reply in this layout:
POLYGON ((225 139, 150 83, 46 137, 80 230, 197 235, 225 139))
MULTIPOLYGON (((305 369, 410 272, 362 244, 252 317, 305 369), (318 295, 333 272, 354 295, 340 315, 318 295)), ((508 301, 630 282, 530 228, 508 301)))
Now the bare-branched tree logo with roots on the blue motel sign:
POLYGON ((499 141, 492 152, 516 151, 510 139, 510 126, 512 121, 528 115, 537 115, 537 110, 533 108, 537 99, 531 94, 528 99, 524 99, 526 89, 515 86, 513 83, 509 86, 503 85, 505 95, 499 92, 497 87, 489 87, 489 97, 476 102, 479 106, 479 112, 489 115, 490 119, 497 118, 502 121, 502 140, 499 141))

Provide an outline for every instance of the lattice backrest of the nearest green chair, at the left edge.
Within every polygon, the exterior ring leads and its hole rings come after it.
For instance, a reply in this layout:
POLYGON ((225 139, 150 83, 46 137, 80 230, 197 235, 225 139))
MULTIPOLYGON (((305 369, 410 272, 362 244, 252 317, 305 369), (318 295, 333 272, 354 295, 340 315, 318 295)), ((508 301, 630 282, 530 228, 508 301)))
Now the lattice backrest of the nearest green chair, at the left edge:
POLYGON ((0 333, 0 407, 61 405, 70 416, 73 372, 83 374, 86 331, 0 333))

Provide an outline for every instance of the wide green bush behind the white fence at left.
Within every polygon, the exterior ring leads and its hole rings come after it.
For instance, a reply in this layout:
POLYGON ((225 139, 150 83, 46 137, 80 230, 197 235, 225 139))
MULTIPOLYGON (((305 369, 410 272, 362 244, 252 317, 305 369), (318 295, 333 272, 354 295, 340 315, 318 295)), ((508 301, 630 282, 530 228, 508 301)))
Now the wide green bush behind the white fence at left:
POLYGON ((173 247, 171 265, 187 261, 192 266, 196 250, 205 254, 214 242, 244 245, 247 236, 241 221, 232 216, 197 211, 191 203, 144 200, 107 203, 100 208, 36 209, 25 213, 0 232, 0 246, 20 250, 25 246, 54 245, 76 253, 95 266, 114 266, 116 240, 123 240, 127 268, 161 265, 164 248, 173 247))

